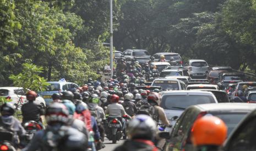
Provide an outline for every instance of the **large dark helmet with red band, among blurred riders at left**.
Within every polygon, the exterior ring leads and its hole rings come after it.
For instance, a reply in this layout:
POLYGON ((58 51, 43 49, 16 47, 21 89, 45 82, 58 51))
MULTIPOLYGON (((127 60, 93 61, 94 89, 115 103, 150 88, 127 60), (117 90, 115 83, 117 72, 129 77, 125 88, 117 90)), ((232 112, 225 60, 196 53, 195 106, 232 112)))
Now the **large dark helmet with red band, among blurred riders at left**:
POLYGON ((48 125, 55 123, 66 124, 68 121, 68 109, 63 103, 52 103, 46 109, 45 119, 48 125))

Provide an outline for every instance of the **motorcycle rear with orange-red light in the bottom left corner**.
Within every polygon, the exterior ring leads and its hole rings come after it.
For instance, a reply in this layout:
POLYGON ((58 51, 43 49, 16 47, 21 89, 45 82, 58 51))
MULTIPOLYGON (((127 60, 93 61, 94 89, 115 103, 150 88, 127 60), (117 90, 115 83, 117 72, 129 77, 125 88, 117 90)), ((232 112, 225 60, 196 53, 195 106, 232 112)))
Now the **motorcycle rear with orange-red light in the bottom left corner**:
POLYGON ((15 151, 12 141, 13 132, 0 130, 0 150, 15 151))

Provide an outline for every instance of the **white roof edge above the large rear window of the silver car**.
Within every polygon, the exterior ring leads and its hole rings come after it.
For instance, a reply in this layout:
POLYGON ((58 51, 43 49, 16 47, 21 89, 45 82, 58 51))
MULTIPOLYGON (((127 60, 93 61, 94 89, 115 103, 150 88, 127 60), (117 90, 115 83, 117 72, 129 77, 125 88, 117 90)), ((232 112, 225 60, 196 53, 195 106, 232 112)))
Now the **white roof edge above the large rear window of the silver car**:
POLYGON ((163 95, 198 95, 198 94, 214 96, 212 92, 195 91, 195 90, 162 91, 161 96, 163 95))

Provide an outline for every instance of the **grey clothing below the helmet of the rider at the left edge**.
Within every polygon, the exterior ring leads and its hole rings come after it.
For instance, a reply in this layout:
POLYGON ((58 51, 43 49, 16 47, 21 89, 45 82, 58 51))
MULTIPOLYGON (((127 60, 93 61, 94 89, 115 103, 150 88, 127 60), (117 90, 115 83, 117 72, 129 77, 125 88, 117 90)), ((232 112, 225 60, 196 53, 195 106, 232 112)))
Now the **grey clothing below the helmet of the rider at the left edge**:
POLYGON ((1 116, 0 117, 0 129, 1 131, 13 132, 13 144, 18 146, 19 141, 25 136, 26 131, 21 126, 18 119, 13 116, 1 116))

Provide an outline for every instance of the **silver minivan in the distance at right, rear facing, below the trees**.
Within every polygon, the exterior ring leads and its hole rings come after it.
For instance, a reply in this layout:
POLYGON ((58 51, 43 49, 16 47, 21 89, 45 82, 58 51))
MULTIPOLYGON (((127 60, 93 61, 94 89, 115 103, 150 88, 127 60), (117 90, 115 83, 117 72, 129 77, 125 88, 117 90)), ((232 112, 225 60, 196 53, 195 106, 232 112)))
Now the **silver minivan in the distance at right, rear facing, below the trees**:
POLYGON ((184 69, 188 70, 189 77, 191 78, 206 78, 210 68, 205 60, 188 60, 184 69))

